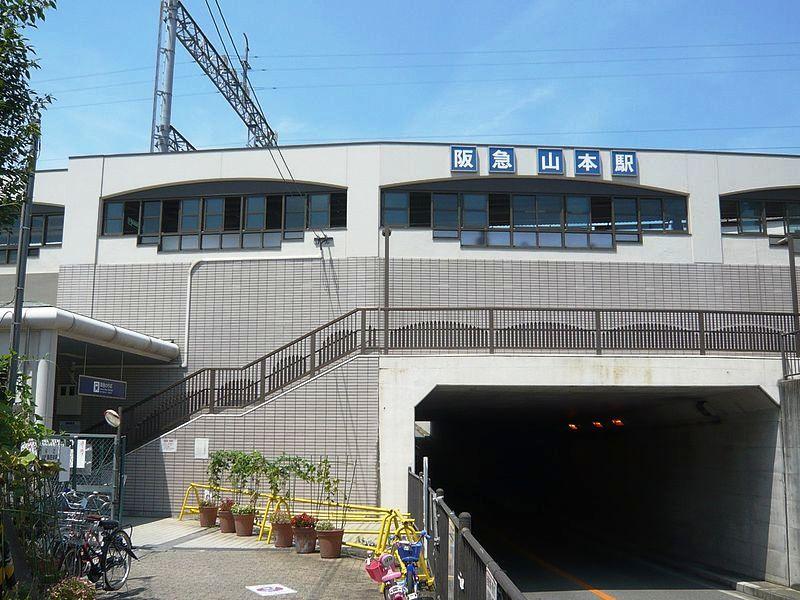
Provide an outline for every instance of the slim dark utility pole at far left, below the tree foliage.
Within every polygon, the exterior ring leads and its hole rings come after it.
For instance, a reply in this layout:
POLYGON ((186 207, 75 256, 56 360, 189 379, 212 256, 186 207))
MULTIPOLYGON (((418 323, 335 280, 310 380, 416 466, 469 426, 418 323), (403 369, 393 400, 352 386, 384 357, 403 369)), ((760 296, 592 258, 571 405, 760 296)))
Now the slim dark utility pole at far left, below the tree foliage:
POLYGON ((28 185, 22 201, 19 216, 19 243, 17 244, 17 287, 14 292, 14 316, 11 324, 11 360, 8 365, 8 396, 13 399, 17 393, 19 371, 19 342, 22 338, 22 303, 25 301, 25 274, 28 269, 28 246, 31 241, 31 205, 33 204, 33 184, 36 178, 36 160, 39 157, 39 133, 31 141, 28 157, 28 185))

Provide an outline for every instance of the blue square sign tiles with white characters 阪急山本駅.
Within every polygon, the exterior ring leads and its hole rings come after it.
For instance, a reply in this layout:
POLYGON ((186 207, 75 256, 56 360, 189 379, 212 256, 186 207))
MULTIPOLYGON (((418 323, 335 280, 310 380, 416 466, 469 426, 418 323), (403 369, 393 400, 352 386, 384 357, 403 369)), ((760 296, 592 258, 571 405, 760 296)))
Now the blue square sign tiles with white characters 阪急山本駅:
MULTIPOLYGON (((511 146, 489 146, 489 173, 516 173, 517 154, 511 146)), ((574 151, 574 171, 576 176, 595 176, 603 174, 600 150, 576 149, 574 151)), ((536 172, 539 175, 565 175, 564 150, 561 148, 537 148, 536 172)), ((450 146, 450 170, 454 173, 478 172, 477 146, 450 146)), ((639 162, 632 150, 611 151, 612 177, 638 177, 639 162)))

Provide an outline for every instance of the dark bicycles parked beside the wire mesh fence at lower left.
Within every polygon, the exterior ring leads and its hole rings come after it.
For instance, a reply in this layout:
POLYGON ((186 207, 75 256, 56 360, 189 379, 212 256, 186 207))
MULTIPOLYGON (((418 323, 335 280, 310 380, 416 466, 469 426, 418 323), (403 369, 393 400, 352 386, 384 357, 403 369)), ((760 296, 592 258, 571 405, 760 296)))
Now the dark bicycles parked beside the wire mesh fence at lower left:
POLYGON ((101 494, 79 497, 74 492, 61 495, 60 531, 62 567, 70 575, 88 577, 106 590, 120 589, 128 579, 133 552, 130 535, 119 521, 106 519, 108 499, 101 494), (87 507, 92 507, 89 510, 87 507))

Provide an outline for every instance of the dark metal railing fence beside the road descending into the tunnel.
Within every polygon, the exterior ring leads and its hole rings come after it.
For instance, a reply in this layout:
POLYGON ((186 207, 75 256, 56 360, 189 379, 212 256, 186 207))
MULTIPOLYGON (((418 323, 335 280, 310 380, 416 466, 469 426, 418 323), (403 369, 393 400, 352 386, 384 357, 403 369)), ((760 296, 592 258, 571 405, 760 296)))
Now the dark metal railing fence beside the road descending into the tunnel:
POLYGON ((442 490, 424 489, 421 477, 408 473, 409 512, 417 527, 428 531, 428 564, 437 600, 524 600, 525 595, 470 531, 469 513, 456 514, 442 490), (428 494, 428 523, 422 516, 428 494), (416 511, 416 512, 415 512, 416 511))

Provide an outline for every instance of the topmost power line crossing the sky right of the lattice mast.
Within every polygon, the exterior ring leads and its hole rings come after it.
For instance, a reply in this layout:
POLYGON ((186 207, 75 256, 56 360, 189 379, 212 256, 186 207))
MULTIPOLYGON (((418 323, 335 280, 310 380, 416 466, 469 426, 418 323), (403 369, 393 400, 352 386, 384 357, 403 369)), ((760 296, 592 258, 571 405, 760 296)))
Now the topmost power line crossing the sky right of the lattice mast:
POLYGON ((533 54, 537 52, 592 52, 616 50, 678 50, 686 48, 744 48, 763 46, 793 46, 798 41, 787 42, 735 42, 727 44, 663 44, 647 46, 584 46, 583 48, 528 48, 496 50, 425 50, 415 52, 342 52, 325 54, 261 54, 253 58, 343 58, 354 56, 433 56, 433 55, 475 55, 475 54, 533 54))

